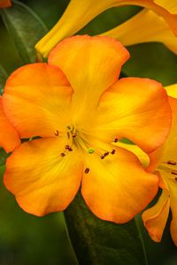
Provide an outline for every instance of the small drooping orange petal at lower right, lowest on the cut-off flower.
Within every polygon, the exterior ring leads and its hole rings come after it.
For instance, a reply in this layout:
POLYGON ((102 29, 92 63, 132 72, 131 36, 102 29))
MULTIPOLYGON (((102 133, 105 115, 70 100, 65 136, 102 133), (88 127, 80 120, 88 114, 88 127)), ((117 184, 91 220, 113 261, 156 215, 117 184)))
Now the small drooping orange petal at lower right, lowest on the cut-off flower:
POLYGON ((160 242, 165 229, 170 209, 169 194, 163 191, 158 202, 152 208, 147 209, 142 214, 144 226, 150 234, 150 238, 160 242))

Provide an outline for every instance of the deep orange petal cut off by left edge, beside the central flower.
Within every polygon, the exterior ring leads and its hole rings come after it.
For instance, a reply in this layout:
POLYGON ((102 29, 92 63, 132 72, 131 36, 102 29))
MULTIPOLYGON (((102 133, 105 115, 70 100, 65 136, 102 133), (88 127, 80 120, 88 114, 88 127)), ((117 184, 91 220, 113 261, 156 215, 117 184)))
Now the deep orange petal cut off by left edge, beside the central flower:
POLYGON ((0 97, 0 147, 9 153, 20 143, 19 135, 4 114, 2 98, 0 97))

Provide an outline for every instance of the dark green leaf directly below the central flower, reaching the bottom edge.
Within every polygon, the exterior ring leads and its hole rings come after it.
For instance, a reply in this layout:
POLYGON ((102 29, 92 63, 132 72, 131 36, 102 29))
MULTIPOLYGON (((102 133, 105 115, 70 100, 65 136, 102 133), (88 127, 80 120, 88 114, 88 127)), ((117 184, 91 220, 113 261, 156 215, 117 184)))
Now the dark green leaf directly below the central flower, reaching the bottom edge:
POLYGON ((78 193, 65 210, 65 221, 80 264, 147 264, 135 220, 125 224, 105 222, 89 211, 78 193))

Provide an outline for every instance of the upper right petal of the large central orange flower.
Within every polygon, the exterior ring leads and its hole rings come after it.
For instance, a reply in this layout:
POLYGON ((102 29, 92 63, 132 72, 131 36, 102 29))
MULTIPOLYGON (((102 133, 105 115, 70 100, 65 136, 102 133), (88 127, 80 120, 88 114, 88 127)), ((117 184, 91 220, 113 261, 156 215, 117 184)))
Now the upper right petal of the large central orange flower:
POLYGON ((171 126, 165 89, 151 79, 119 79, 102 96, 99 111, 97 133, 128 138, 147 153, 164 142, 171 126))

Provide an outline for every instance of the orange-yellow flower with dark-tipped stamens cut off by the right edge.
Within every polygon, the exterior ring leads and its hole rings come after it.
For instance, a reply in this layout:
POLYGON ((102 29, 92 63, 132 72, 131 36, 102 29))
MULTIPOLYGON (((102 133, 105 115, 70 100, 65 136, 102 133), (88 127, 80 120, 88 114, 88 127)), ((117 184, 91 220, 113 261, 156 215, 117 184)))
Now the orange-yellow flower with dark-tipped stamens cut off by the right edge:
POLYGON ((177 246, 177 85, 166 87, 173 112, 173 125, 165 144, 150 155, 149 170, 157 170, 162 194, 156 205, 142 214, 150 238, 156 242, 162 239, 165 224, 172 210, 170 231, 177 246))

